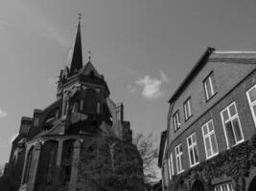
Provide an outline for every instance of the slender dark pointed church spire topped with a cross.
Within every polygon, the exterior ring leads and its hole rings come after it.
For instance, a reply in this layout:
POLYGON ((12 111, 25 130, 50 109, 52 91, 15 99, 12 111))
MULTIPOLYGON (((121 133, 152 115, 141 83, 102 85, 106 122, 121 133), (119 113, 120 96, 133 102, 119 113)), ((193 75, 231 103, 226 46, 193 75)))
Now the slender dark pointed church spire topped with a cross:
POLYGON ((82 52, 81 52, 81 13, 79 13, 79 24, 76 33, 75 44, 70 65, 70 75, 76 74, 82 68, 82 52))

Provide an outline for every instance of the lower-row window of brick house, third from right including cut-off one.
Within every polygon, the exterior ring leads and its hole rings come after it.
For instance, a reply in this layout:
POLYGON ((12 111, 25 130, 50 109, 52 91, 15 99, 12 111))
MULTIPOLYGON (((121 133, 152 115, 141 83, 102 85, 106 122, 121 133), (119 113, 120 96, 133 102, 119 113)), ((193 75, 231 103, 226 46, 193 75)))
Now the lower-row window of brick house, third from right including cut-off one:
POLYGON ((208 121, 201 127, 206 159, 210 159, 218 154, 218 145, 215 136, 213 120, 208 121))

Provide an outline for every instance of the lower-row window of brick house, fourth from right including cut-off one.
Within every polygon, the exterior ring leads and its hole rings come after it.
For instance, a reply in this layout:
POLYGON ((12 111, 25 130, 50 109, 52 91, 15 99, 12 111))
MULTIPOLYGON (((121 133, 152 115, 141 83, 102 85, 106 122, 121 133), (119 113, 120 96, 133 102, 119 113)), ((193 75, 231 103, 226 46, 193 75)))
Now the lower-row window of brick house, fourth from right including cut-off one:
POLYGON ((198 161, 198 145, 196 133, 187 138, 190 166, 195 166, 198 161))

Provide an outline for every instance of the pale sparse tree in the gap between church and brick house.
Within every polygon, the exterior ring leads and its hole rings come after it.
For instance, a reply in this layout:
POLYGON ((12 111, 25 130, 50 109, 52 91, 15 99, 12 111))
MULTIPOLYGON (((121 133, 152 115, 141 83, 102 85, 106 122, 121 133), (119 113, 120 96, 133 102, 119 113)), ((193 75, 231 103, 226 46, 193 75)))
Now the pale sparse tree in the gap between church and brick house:
POLYGON ((143 170, 145 176, 145 182, 158 179, 157 159, 158 149, 156 147, 156 138, 153 138, 152 134, 138 133, 133 138, 133 144, 137 146, 137 149, 143 159, 143 170))

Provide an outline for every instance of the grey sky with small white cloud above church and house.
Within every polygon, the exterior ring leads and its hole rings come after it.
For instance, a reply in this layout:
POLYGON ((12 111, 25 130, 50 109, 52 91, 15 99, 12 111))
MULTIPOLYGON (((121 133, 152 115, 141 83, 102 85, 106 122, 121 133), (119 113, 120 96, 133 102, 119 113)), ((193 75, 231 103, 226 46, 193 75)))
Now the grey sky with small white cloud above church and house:
POLYGON ((207 49, 256 50, 251 0, 0 0, 0 164, 21 117, 56 99, 81 12, 84 64, 105 75, 133 133, 167 127, 168 99, 207 49))

